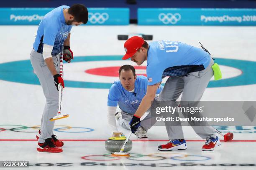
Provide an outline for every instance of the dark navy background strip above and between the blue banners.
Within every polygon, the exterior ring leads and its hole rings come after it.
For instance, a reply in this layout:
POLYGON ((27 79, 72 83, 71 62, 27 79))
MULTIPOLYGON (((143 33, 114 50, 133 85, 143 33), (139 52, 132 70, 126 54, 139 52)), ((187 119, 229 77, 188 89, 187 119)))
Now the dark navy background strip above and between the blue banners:
POLYGON ((137 19, 138 7, 256 8, 256 0, 0 0, 0 7, 58 7, 75 3, 87 7, 129 7, 131 19, 137 19))

